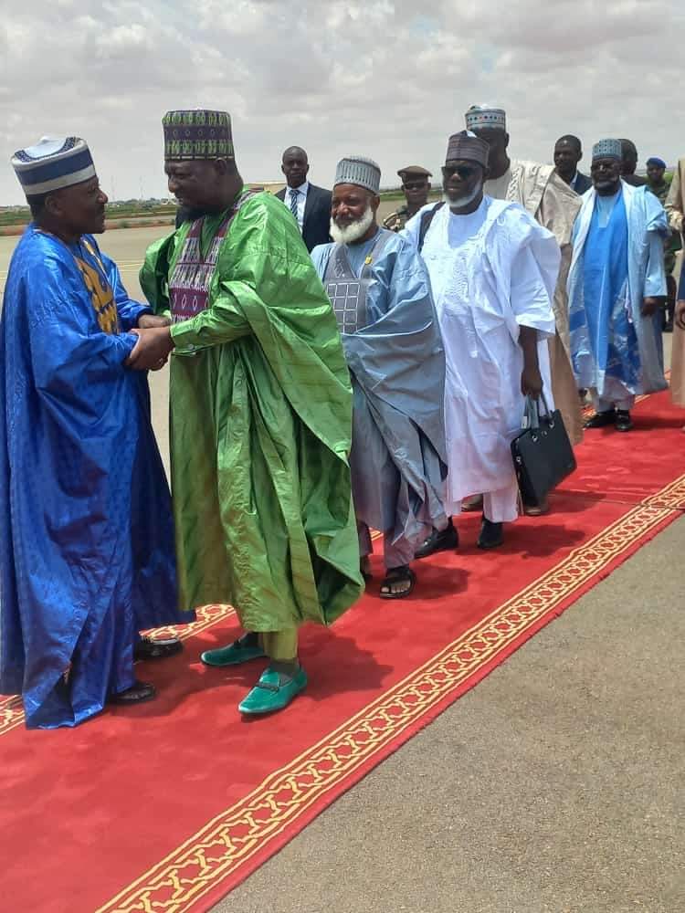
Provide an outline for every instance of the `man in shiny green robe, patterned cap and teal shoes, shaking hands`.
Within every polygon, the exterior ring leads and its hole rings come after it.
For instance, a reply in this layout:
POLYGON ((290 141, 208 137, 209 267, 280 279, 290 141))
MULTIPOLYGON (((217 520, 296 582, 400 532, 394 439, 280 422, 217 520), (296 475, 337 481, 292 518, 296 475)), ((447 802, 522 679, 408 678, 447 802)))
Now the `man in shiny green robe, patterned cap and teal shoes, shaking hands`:
POLYGON ((141 285, 172 325, 141 331, 137 367, 170 354, 172 488, 183 605, 232 603, 246 634, 207 666, 268 657, 243 713, 307 683, 298 627, 360 595, 347 454, 352 389, 335 316, 279 200, 237 172, 230 118, 171 111, 164 170, 203 217, 153 244, 141 285))

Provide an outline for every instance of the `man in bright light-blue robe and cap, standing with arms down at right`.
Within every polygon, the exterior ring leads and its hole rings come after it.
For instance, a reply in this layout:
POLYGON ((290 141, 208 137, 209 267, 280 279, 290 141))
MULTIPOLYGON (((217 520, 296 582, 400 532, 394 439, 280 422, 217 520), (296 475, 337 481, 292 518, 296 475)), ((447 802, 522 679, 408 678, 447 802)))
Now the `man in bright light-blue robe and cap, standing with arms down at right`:
POLYGON ((575 378, 595 406, 585 427, 629 431, 636 395, 666 387, 659 308, 668 226, 657 197, 622 181, 620 168, 620 141, 598 142, 574 225, 569 327, 575 378))

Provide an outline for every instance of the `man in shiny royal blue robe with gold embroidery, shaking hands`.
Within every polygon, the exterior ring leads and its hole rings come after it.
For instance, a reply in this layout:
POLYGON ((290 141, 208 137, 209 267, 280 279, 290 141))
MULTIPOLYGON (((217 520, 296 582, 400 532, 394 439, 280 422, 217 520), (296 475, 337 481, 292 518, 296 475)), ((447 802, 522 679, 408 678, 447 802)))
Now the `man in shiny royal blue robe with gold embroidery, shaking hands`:
POLYGON ((0 319, 0 692, 29 728, 74 726, 106 701, 154 697, 135 659, 176 639, 141 630, 176 611, 171 499, 146 375, 127 367, 129 299, 93 234, 107 197, 77 137, 12 160, 34 221, 10 263, 0 319))

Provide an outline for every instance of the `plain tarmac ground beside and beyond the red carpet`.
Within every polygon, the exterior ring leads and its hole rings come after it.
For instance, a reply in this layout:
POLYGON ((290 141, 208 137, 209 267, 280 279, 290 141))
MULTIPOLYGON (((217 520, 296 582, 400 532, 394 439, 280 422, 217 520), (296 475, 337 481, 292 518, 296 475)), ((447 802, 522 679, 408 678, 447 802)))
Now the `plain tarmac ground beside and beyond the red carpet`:
MULTIPOLYGON (((101 238, 134 298, 166 230, 101 238)), ((165 371, 151 387, 166 461, 165 371)), ((684 548, 680 519, 214 913, 683 913, 684 548)))

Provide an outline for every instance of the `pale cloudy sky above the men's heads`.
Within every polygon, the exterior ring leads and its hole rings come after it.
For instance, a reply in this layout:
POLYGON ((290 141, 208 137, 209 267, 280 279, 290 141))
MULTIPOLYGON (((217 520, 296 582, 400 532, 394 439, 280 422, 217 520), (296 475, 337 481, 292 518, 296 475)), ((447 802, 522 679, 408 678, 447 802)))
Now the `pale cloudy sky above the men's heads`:
POLYGON ((310 177, 376 159, 435 171, 469 104, 506 108, 511 154, 628 136, 640 159, 685 155, 680 0, 26 0, 0 25, 0 205, 22 201, 12 153, 77 134, 117 198, 166 195, 160 119, 233 117, 248 181, 293 143, 310 177))

